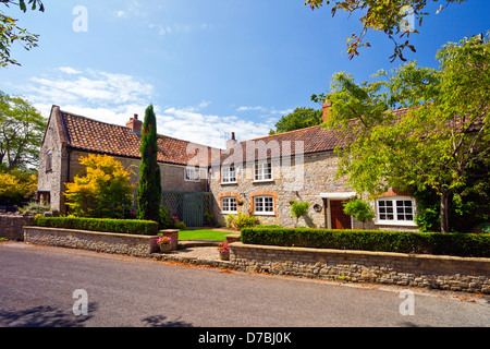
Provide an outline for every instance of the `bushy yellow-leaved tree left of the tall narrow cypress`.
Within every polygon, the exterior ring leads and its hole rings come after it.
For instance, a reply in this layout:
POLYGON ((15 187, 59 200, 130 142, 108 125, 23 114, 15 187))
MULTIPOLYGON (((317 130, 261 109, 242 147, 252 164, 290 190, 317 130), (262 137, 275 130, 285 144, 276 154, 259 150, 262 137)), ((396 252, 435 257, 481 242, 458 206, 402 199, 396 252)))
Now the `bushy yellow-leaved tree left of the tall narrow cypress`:
POLYGON ((85 173, 65 183, 66 205, 77 217, 124 218, 133 203, 131 172, 112 156, 81 157, 85 173))

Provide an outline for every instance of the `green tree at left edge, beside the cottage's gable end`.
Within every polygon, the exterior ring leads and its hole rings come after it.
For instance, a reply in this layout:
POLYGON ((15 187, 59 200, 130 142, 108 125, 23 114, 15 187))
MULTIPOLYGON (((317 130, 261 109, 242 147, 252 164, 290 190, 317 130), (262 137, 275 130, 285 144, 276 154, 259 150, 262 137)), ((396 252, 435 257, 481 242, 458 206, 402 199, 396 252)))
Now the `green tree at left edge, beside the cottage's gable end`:
POLYGON ((46 119, 27 100, 0 92, 0 164, 37 167, 46 119))

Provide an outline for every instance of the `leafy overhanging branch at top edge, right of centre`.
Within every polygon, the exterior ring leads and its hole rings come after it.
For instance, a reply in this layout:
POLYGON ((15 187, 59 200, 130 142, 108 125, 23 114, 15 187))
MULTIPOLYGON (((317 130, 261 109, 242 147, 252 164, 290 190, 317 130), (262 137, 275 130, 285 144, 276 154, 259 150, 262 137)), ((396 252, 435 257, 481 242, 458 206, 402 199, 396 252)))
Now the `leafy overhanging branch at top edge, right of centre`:
MULTIPOLYGON (((433 0, 438 1, 438 0, 433 0)), ((442 1, 442 0, 439 0, 442 1)), ((444 4, 441 4, 437 13, 446 8, 451 3, 462 3, 466 0, 444 0, 444 4)), ((311 10, 318 9, 324 4, 332 2, 331 13, 332 16, 336 14, 338 10, 342 10, 352 13, 363 13, 360 23, 363 28, 357 36, 353 34, 347 38, 347 55, 352 59, 354 56, 358 56, 358 49, 360 47, 370 47, 369 43, 363 43, 369 29, 383 32, 394 44, 394 53, 390 58, 393 62, 396 58, 405 61, 403 57, 403 50, 405 48, 415 52, 415 47, 409 44, 409 35, 412 33, 418 34, 418 32, 411 27, 407 23, 406 15, 413 15, 414 22, 417 22, 421 26, 424 17, 429 13, 424 12, 427 7, 427 0, 305 0, 305 4, 308 4, 311 10), (404 36, 406 38, 404 38, 404 36), (403 41, 405 40, 405 41, 403 41)))

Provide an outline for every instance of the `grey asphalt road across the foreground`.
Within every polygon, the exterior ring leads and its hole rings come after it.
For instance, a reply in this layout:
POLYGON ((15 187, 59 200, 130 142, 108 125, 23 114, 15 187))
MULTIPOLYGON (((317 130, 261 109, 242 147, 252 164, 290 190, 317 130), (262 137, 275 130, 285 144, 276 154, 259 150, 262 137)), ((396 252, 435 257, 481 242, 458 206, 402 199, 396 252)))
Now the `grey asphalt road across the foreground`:
POLYGON ((0 243, 1 327, 490 325, 489 298, 401 291, 0 243))

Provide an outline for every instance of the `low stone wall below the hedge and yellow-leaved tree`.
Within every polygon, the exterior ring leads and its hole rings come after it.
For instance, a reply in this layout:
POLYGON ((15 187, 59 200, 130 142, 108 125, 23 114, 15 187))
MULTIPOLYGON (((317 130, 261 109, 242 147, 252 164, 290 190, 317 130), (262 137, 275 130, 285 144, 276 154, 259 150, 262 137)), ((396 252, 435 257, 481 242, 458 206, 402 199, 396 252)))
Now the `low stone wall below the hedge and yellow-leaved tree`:
POLYGON ((151 253, 159 251, 157 238, 156 236, 24 227, 25 242, 142 257, 148 257, 151 253))

